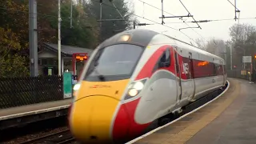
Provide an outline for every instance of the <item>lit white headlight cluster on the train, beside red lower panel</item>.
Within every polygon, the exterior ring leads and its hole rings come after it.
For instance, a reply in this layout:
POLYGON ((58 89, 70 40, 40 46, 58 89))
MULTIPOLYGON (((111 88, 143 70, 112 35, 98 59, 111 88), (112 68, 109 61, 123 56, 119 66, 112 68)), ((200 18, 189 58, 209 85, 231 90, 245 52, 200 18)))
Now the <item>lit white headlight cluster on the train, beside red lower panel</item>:
POLYGON ((143 89, 146 83, 146 79, 137 82, 131 82, 130 86, 128 86, 128 91, 125 99, 130 99, 136 97, 143 89))

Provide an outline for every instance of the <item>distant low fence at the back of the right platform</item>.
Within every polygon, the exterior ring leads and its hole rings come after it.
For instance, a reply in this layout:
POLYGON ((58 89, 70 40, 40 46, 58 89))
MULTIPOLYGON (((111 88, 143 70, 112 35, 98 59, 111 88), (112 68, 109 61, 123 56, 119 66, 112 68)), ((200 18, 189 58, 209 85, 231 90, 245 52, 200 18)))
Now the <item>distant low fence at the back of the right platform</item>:
MULTIPOLYGON (((251 74, 251 81, 255 82, 255 74, 256 71, 253 71, 251 74)), ((250 70, 227 70, 227 77, 229 78, 242 78, 246 80, 250 80, 250 70)))

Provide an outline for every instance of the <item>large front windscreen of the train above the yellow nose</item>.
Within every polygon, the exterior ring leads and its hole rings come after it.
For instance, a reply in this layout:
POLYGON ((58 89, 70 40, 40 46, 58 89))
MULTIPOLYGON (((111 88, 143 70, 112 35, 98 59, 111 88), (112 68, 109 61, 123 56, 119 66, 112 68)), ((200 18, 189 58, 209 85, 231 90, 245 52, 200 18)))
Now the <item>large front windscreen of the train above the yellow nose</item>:
POLYGON ((98 50, 86 72, 86 81, 130 78, 143 52, 142 46, 118 44, 98 50))

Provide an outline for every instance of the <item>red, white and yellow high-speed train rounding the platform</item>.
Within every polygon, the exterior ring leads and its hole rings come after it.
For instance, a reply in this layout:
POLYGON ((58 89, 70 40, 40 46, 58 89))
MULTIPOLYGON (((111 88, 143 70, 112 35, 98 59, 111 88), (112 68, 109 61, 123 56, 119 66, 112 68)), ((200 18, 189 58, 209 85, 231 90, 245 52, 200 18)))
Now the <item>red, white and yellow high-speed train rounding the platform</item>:
POLYGON ((222 58, 151 30, 126 30, 86 63, 74 86, 70 131, 83 143, 122 142, 225 85, 222 58))

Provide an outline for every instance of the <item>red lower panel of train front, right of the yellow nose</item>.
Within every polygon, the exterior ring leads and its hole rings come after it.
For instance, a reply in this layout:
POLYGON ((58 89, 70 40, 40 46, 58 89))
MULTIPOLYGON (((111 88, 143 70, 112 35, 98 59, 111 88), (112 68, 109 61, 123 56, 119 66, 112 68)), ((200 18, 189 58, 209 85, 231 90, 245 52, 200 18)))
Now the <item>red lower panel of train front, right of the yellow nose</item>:
POLYGON ((137 137, 142 134, 143 130, 146 130, 147 126, 150 125, 150 123, 140 125, 134 121, 134 114, 139 100, 140 98, 133 102, 127 102, 118 110, 117 117, 114 121, 114 139, 137 137))

